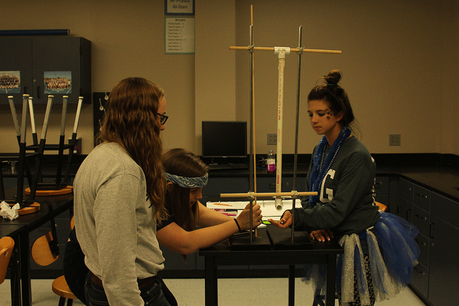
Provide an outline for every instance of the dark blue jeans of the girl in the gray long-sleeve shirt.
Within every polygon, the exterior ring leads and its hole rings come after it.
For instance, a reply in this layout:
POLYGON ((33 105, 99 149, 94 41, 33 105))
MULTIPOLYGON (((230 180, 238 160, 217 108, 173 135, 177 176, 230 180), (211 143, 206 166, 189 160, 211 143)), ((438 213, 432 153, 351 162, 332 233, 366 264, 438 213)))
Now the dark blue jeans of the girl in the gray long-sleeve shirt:
MULTIPOLYGON (((107 306, 109 302, 105 294, 104 287, 95 284, 90 274, 86 276, 85 296, 89 306, 107 306)), ((161 290, 161 282, 155 281, 153 284, 140 289, 140 296, 145 302, 145 306, 170 306, 163 291, 161 290)))

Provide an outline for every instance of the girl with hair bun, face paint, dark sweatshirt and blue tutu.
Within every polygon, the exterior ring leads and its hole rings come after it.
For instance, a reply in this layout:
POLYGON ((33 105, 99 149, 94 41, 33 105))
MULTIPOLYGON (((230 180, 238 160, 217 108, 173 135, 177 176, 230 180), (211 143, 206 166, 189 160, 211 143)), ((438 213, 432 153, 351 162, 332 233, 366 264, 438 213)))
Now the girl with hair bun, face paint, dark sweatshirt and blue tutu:
MULTIPOLYGON (((340 305, 373 305, 411 283, 419 246, 417 228, 393 214, 381 212, 374 200, 376 165, 370 152, 351 135, 354 115, 349 98, 338 84, 341 73, 330 71, 325 84, 308 95, 313 130, 323 135, 314 148, 306 190, 318 192, 301 201, 272 224, 307 230, 311 239, 337 239, 344 254, 337 260, 340 305)), ((315 294, 324 294, 324 266, 304 269, 304 282, 313 281, 315 294)))

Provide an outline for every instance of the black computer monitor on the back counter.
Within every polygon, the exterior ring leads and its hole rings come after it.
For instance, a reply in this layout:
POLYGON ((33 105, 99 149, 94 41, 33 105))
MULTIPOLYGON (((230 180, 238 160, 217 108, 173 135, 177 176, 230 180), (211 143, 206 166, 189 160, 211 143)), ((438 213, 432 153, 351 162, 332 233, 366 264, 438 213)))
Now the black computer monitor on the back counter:
POLYGON ((202 121, 203 158, 246 158, 247 121, 202 121))

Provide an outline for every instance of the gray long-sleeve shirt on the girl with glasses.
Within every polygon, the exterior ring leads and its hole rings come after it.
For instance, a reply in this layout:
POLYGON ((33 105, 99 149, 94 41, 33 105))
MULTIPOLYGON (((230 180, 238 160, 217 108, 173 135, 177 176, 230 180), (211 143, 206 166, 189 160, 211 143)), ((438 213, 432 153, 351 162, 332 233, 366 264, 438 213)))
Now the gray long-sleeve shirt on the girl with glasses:
POLYGON ((86 266, 102 280, 111 306, 142 306, 137 278, 164 269, 142 169, 121 146, 103 143, 83 161, 73 188, 86 266))

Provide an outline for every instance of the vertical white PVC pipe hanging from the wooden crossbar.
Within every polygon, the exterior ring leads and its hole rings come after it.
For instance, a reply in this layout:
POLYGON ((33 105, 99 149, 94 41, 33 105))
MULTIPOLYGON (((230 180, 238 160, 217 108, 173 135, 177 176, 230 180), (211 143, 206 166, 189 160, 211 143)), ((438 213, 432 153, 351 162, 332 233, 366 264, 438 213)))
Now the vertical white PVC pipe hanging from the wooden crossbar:
MULTIPOLYGON (((281 192, 282 187, 282 123, 284 110, 284 67, 285 55, 290 54, 289 47, 274 47, 274 53, 279 58, 279 78, 277 92, 277 151, 276 151, 276 193, 281 192)), ((275 207, 278 211, 282 210, 282 198, 276 196, 275 207)))

